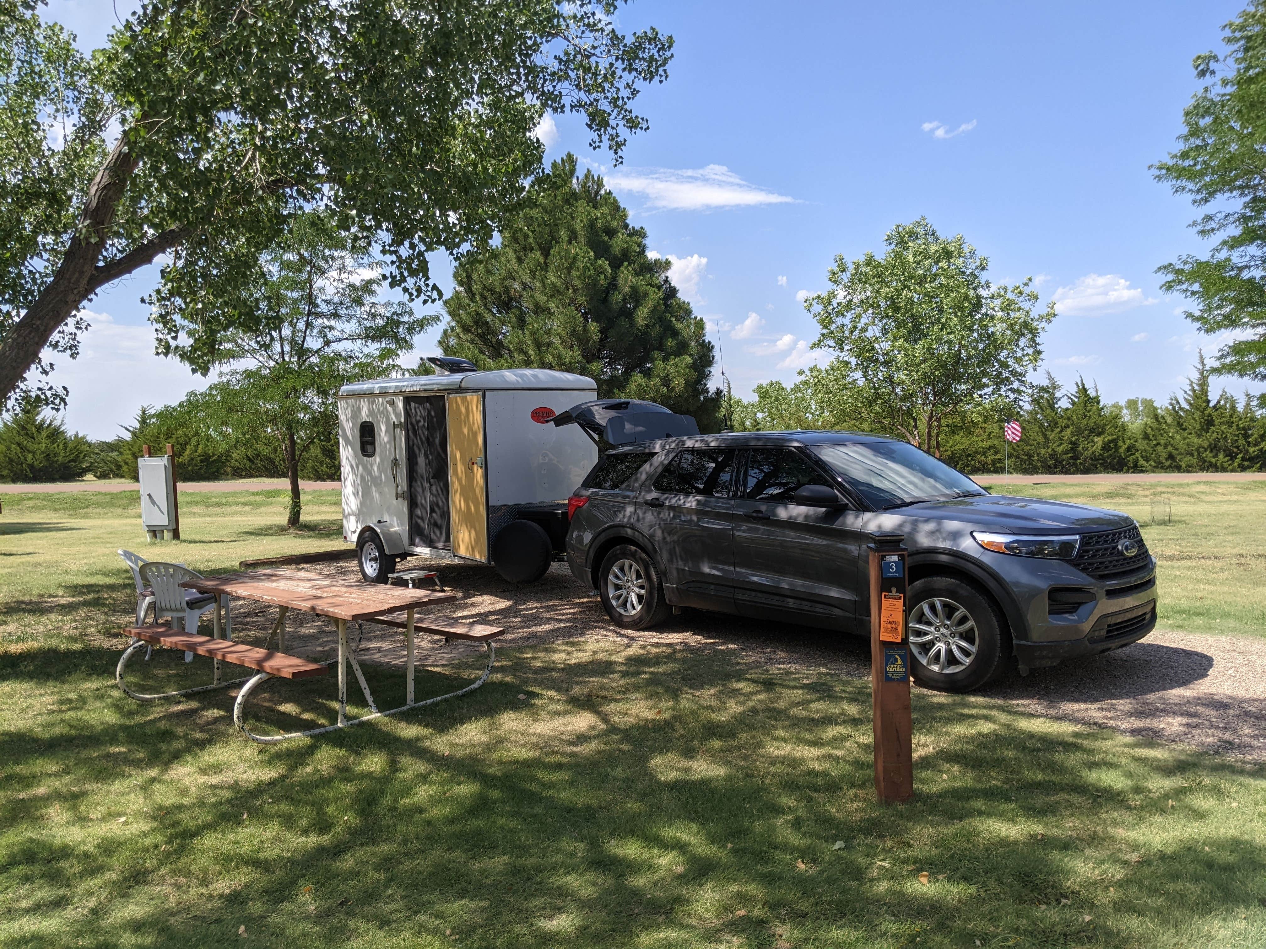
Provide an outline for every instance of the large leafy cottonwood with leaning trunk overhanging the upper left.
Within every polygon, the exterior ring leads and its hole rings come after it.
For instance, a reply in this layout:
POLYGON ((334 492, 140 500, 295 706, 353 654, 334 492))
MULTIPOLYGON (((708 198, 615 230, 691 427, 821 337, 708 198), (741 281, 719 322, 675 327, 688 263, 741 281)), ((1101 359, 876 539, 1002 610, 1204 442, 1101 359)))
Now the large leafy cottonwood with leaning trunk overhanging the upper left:
MULTIPOLYGON (((170 254, 167 287, 223 299, 313 208, 438 294, 427 253, 491 239, 542 115, 618 159, 672 46, 620 33, 619 0, 144 0, 87 58, 38 5, 0 0, 0 401, 105 285, 170 254)), ((163 339, 205 371, 256 319, 163 339)))

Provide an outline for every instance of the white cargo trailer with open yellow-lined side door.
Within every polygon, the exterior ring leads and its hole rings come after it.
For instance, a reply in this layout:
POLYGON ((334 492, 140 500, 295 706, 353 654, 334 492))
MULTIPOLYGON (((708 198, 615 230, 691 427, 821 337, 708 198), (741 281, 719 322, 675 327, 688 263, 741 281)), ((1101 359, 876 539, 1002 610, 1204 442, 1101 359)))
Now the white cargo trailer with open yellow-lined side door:
POLYGON ((339 391, 343 539, 373 582, 409 554, 539 580, 562 555, 567 497, 598 462, 579 426, 549 423, 592 400, 596 385, 552 369, 430 362, 441 375, 339 391))

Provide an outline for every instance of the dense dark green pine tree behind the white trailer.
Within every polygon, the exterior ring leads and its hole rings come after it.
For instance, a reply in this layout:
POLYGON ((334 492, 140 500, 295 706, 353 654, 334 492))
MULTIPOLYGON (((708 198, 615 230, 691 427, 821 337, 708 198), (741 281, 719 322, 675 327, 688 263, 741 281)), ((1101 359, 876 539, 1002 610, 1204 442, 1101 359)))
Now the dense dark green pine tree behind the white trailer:
POLYGON ((462 254, 444 301, 444 353, 480 368, 590 376, 600 397, 648 399, 714 430, 714 349, 646 230, 568 154, 536 178, 494 248, 462 254))

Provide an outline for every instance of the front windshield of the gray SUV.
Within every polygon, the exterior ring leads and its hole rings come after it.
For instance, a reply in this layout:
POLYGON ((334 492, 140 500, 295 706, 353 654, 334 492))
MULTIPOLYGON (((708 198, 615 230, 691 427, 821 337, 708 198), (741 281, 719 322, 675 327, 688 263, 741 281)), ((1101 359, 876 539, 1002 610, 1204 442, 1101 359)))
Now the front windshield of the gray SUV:
POLYGON ((966 475, 908 442, 814 445, 812 450, 847 478, 872 507, 901 507, 918 501, 989 493, 966 475))

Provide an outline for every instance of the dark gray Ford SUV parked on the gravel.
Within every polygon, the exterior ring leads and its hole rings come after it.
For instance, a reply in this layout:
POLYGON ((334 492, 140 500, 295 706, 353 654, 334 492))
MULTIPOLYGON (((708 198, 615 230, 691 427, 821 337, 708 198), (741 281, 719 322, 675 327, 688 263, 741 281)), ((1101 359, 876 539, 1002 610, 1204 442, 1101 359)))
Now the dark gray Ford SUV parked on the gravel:
POLYGON ((905 442, 841 431, 668 438, 608 452, 568 502, 567 561, 628 629, 674 607, 868 635, 866 545, 910 550, 917 678, 975 688, 1156 625, 1129 516, 990 495, 905 442))

